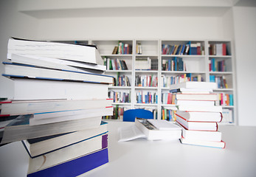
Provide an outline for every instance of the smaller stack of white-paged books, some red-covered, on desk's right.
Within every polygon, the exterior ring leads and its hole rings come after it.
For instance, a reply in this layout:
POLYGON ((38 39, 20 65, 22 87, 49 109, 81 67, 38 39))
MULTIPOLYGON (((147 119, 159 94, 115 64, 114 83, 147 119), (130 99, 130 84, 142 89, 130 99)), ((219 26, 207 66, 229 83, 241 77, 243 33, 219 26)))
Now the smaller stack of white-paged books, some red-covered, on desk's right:
POLYGON ((218 131, 222 107, 216 106, 217 95, 212 93, 216 83, 189 81, 170 86, 176 97, 176 122, 181 125, 181 143, 224 148, 218 131))

